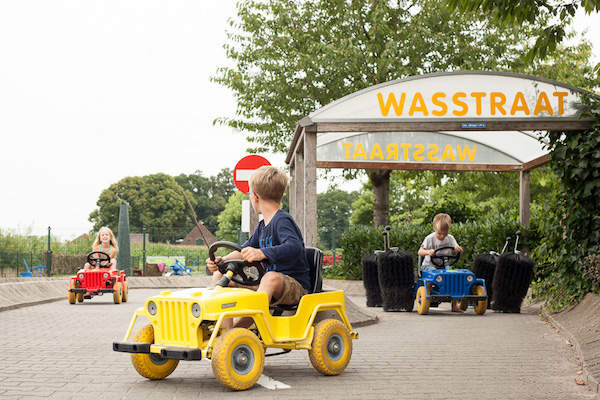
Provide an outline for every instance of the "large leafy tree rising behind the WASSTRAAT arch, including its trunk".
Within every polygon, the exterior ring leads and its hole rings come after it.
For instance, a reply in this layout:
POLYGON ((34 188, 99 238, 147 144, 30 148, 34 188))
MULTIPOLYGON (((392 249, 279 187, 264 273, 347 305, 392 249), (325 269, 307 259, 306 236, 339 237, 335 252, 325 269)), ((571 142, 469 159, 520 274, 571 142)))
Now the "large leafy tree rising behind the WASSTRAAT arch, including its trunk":
MULTIPOLYGON (((371 85, 457 69, 533 70, 523 54, 544 18, 504 24, 441 0, 241 1, 225 44, 235 64, 212 78, 233 91, 237 115, 215 122, 247 132, 250 151, 286 151, 301 118, 371 85)), ((367 175, 374 222, 387 224, 390 173, 367 175)))

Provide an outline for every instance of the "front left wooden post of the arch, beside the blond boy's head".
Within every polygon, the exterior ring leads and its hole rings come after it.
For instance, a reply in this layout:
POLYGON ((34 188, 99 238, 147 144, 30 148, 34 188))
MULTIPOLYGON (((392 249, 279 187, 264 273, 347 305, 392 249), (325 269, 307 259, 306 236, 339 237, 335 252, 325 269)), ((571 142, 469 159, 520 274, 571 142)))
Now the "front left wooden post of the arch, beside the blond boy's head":
POLYGON ((316 247, 317 230, 317 133, 304 131, 304 243, 316 247))

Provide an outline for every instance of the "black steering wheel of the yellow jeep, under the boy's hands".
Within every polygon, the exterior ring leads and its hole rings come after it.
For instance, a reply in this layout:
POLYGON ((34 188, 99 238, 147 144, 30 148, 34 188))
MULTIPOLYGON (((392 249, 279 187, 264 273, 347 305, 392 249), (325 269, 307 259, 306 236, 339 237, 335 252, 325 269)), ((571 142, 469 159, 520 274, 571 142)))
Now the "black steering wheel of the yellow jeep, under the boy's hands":
MULTIPOLYGON (((242 248, 236 243, 226 241, 215 242, 208 249, 208 257, 212 262, 215 261, 215 252, 222 247, 233 251, 242 251, 242 248)), ((223 287, 227 287, 229 281, 234 281, 240 285, 257 286, 265 274, 265 267, 258 261, 221 260, 216 264, 219 272, 223 274, 223 278, 217 282, 217 285, 223 287), (231 271, 233 275, 228 277, 227 271, 231 271)))

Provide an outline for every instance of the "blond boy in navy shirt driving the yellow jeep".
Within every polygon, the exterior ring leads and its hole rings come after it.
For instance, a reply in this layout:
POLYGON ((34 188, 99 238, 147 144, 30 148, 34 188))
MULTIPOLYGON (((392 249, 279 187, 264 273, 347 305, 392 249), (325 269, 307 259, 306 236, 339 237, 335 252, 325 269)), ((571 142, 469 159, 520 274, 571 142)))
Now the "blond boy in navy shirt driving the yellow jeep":
MULTIPOLYGON (((248 183, 250 203, 257 214, 263 215, 263 220, 242 245, 241 252, 217 257, 215 262, 240 258, 262 262, 266 273, 255 290, 267 293, 270 304, 297 304, 310 290, 310 278, 300 228, 290 214, 280 209, 288 178, 273 166, 263 166, 252 174, 248 183)), ((216 284, 222 274, 210 259, 206 260, 206 266, 213 272, 212 281, 216 284)))

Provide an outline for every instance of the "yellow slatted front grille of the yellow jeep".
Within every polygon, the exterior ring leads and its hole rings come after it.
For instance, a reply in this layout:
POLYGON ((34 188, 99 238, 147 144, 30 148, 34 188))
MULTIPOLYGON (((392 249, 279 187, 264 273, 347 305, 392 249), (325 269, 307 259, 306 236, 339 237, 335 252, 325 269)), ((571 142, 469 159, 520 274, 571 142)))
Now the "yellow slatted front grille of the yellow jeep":
POLYGON ((161 344, 184 346, 190 343, 190 313, 188 303, 177 300, 156 300, 161 344))

